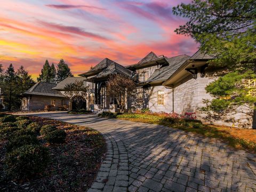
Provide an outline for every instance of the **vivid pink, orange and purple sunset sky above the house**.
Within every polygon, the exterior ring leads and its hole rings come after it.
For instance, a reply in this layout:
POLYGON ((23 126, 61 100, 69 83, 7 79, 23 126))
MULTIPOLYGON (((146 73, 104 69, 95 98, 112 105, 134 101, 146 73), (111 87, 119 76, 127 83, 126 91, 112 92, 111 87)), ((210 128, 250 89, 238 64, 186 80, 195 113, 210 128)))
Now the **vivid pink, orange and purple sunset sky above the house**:
POLYGON ((35 78, 45 62, 63 58, 77 75, 104 58, 137 63, 150 51, 172 57, 197 50, 173 31, 186 20, 172 7, 189 0, 8 0, 0 7, 0 61, 35 78))

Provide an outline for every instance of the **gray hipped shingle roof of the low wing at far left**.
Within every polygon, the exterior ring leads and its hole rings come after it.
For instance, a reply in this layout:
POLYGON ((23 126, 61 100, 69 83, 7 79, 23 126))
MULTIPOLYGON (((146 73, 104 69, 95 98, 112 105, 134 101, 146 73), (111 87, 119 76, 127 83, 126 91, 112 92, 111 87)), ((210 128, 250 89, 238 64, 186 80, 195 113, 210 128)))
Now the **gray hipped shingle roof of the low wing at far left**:
POLYGON ((64 97, 60 91, 52 90, 55 87, 55 83, 47 83, 47 82, 38 82, 29 90, 22 93, 22 95, 41 95, 41 96, 51 96, 51 97, 64 97))

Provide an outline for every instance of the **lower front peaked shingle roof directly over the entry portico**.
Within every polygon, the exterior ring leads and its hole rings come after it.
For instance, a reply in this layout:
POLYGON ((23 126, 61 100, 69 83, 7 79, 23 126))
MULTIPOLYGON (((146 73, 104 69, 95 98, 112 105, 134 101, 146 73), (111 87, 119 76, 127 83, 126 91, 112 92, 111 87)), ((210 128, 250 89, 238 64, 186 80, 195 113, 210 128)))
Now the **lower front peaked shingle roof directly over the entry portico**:
POLYGON ((97 78, 108 77, 109 75, 114 75, 114 74, 122 74, 122 75, 132 77, 133 71, 125 68, 122 65, 119 65, 116 62, 114 62, 114 63, 111 63, 106 69, 102 70, 98 75, 96 75, 96 76, 94 76, 90 79, 95 80, 97 78))

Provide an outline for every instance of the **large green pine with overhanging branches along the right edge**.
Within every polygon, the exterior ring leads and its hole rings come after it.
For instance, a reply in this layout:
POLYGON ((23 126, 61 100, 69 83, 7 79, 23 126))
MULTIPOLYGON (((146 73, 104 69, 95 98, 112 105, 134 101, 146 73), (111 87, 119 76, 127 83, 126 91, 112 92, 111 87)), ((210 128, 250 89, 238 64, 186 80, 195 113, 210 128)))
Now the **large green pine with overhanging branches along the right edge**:
POLYGON ((209 61, 209 67, 226 69, 225 76, 206 87, 214 97, 206 108, 222 113, 243 103, 252 108, 253 129, 256 129, 256 98, 245 97, 246 94, 242 94, 245 87, 241 86, 256 74, 255 1, 193 0, 174 7, 173 13, 189 19, 175 30, 177 34, 193 37, 201 44, 203 52, 215 55, 216 59, 209 61), (226 83, 230 86, 223 87, 226 83))

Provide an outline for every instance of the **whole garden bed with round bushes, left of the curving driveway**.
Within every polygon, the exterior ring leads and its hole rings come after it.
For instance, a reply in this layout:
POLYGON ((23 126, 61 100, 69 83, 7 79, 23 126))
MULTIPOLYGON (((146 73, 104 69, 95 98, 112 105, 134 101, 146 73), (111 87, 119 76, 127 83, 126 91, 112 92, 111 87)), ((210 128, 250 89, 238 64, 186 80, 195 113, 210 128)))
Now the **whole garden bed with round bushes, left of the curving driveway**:
POLYGON ((84 126, 0 114, 0 191, 86 191, 105 150, 84 126))

